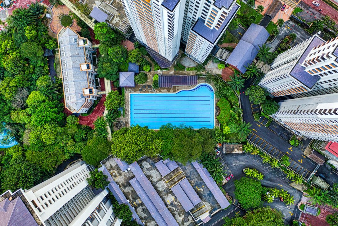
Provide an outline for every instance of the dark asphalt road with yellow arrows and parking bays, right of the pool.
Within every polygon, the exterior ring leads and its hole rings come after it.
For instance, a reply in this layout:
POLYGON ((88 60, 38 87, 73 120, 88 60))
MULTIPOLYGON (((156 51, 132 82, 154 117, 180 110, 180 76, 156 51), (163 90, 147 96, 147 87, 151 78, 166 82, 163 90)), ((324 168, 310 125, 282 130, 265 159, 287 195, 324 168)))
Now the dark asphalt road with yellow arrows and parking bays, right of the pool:
MULTIPOLYGON (((251 123, 250 129, 252 129, 247 138, 277 159, 281 159, 284 154, 287 155, 291 162, 290 168, 307 178, 317 166, 316 163, 303 155, 303 151, 310 143, 310 139, 303 140, 303 145, 293 147, 289 144, 288 140, 283 139, 283 136, 279 135, 288 133, 284 131, 286 129, 283 126, 270 129, 255 121, 253 112, 259 112, 259 105, 251 105, 249 97, 243 93, 252 81, 253 79, 246 80, 244 88, 240 90, 243 120, 251 123)), ((273 124, 270 124, 270 126, 273 126, 273 124)))

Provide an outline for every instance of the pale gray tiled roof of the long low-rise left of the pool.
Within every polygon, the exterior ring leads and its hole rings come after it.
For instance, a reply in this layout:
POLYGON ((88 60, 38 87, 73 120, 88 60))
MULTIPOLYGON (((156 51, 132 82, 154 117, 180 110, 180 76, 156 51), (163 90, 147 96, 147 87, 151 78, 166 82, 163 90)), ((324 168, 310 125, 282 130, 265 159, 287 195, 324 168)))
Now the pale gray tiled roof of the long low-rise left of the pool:
POLYGON ((74 38, 78 39, 79 35, 70 28, 63 28, 63 31, 58 34, 66 106, 79 111, 86 102, 82 89, 88 88, 88 80, 87 72, 80 71, 80 63, 86 63, 84 48, 78 47, 74 38), (62 40, 63 44, 61 44, 62 40), (65 52, 65 56, 62 55, 62 52, 65 52), (64 61, 66 67, 63 66, 64 61), (66 73, 68 80, 65 80, 66 73), (66 92, 66 86, 68 86, 69 92, 66 92), (67 100, 67 97, 70 100, 67 100))

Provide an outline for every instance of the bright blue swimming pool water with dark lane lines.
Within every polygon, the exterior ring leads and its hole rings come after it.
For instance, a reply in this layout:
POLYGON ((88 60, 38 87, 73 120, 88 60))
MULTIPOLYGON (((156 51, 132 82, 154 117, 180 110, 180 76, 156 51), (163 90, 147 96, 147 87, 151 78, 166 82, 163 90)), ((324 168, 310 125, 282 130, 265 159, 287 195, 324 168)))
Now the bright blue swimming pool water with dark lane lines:
POLYGON ((131 93, 130 125, 159 129, 161 125, 214 128, 214 90, 206 83, 177 93, 131 93))

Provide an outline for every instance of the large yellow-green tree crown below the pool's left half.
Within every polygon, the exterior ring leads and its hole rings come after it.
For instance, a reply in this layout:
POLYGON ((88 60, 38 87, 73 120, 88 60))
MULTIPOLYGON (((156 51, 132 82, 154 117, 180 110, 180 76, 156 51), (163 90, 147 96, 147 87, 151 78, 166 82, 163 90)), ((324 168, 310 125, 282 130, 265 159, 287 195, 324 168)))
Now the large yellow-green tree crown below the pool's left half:
POLYGON ((129 164, 144 155, 155 157, 163 144, 155 131, 139 125, 116 131, 112 142, 112 153, 129 164))

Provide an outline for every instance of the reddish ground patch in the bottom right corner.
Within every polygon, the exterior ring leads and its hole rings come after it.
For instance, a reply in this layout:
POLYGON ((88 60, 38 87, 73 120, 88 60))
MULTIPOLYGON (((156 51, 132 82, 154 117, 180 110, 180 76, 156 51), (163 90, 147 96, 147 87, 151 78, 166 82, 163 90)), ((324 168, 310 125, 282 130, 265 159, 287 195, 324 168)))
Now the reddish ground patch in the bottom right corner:
MULTIPOLYGON (((318 217, 306 214, 303 223, 306 225, 320 225, 320 226, 330 226, 326 222, 326 216, 329 214, 338 213, 338 210, 331 208, 330 206, 318 206, 320 208, 320 215, 318 217)), ((301 213, 300 221, 303 219, 304 213, 301 213)))

